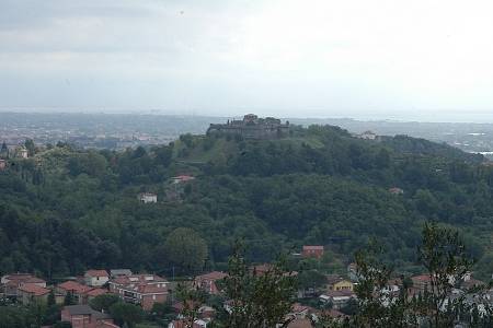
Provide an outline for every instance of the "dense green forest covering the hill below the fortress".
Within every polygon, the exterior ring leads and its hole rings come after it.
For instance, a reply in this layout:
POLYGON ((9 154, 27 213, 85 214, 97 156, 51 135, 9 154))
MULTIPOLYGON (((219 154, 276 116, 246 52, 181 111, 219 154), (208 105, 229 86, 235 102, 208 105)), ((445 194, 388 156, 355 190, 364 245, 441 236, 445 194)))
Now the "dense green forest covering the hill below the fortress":
POLYGON ((334 271, 376 238, 383 260, 415 273, 425 221, 460 230, 477 276, 493 272, 493 166, 445 144, 311 126, 279 140, 184 134, 125 152, 26 147, 30 159, 10 159, 0 172, 0 273, 56 280, 127 267, 192 274, 226 268, 239 238, 255 262, 324 245, 334 271), (179 175, 195 179, 174 184, 179 175), (158 202, 140 203, 139 192, 157 194, 158 202), (206 242, 204 268, 173 260, 168 241, 180 227, 206 242))

